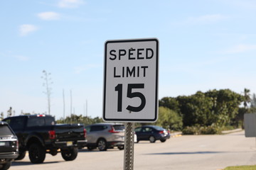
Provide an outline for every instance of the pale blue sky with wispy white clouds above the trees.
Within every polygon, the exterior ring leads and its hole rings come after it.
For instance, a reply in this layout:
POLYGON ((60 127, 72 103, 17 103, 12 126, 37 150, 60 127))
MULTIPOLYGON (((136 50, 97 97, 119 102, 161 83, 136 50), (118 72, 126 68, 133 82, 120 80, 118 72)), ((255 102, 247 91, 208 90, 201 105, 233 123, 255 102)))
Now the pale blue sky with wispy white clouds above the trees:
POLYGON ((256 1, 0 2, 0 112, 102 116, 106 40, 159 39, 159 98, 256 93, 256 1), (70 106, 72 91, 72 107, 70 106), (87 101, 87 112, 86 112, 87 101))

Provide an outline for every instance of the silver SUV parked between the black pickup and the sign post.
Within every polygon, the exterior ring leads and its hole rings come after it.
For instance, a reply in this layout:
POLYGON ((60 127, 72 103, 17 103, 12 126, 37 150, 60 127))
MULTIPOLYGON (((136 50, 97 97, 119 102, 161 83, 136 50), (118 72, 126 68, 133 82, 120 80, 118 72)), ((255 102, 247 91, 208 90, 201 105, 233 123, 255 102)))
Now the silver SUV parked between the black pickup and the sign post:
POLYGON ((97 123, 85 127, 87 131, 87 149, 98 147, 100 151, 118 147, 124 149, 124 124, 97 123))

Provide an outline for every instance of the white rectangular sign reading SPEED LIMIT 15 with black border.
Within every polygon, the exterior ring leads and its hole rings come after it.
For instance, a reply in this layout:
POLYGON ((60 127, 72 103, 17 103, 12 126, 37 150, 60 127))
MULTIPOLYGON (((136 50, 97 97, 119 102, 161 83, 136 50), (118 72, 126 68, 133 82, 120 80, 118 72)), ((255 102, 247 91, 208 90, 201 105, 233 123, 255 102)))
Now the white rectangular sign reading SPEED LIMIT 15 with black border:
POLYGON ((155 122, 158 117, 159 41, 107 40, 103 120, 155 122))

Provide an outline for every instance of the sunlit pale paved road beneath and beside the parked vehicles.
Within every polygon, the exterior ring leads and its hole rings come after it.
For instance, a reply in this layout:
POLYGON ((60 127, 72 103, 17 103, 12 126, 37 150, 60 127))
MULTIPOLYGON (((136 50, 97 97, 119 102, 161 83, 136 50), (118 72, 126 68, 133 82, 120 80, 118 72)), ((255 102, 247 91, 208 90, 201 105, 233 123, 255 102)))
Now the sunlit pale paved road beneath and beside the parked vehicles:
MULTIPOLYGON (((244 131, 228 135, 184 135, 164 143, 139 142, 134 148, 134 170, 216 170, 226 166, 256 164, 255 138, 246 138, 244 131)), ((13 170, 98 170, 123 169, 124 152, 109 149, 79 152, 73 162, 65 162, 60 154, 49 154, 43 164, 31 164, 28 157, 14 162, 13 170)))

